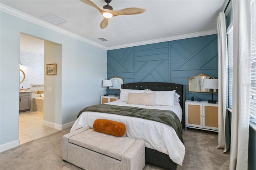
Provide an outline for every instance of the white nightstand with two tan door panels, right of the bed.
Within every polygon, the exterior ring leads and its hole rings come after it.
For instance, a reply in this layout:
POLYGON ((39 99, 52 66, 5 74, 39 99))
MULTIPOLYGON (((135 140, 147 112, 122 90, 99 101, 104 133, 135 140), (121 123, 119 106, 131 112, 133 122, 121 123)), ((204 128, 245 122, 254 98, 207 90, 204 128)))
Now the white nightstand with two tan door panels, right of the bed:
POLYGON ((218 132, 218 103, 186 100, 186 128, 218 132))

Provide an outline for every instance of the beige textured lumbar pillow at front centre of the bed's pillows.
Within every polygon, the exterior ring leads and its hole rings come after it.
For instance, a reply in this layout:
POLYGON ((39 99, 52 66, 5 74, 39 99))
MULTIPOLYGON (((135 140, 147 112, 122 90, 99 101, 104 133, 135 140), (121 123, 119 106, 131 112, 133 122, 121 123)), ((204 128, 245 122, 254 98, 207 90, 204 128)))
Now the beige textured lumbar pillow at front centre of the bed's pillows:
POLYGON ((146 105, 154 106, 155 105, 155 92, 152 93, 129 93, 128 94, 128 104, 136 105, 146 105))

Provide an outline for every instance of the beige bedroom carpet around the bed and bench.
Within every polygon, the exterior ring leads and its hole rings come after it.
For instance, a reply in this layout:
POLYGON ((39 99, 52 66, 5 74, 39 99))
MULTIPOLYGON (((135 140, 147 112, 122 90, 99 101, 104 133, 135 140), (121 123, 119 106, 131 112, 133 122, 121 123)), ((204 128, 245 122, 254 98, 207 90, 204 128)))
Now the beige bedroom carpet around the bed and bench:
MULTIPOLYGON (((80 170, 62 161, 62 136, 70 128, 24 143, 0 153, 1 170, 80 170)), ((186 154, 177 170, 225 170, 229 169, 229 153, 217 149, 218 134, 204 130, 184 131, 186 154)), ((146 164, 144 170, 162 170, 146 164)))

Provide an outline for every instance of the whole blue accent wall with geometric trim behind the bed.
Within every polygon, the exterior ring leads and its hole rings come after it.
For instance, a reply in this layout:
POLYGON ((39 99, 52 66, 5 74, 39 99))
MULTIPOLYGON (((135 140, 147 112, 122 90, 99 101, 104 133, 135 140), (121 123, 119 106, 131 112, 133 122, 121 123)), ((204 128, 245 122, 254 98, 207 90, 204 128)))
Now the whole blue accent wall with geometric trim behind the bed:
MULTIPOLYGON (((107 51, 107 78, 124 83, 168 82, 186 85, 186 100, 211 99, 211 93, 188 92, 189 77, 203 73, 218 78, 217 34, 107 51)), ((108 90, 108 94, 116 93, 108 90)), ((214 100, 218 95, 214 94, 214 100)))

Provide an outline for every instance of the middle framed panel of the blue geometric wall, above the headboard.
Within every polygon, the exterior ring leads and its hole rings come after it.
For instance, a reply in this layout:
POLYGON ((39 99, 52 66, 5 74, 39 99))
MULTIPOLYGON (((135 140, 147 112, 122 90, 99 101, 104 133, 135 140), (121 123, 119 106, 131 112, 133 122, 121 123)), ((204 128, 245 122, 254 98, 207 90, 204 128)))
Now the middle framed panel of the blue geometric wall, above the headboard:
POLYGON ((134 82, 169 82, 169 57, 168 42, 134 47, 134 82))

